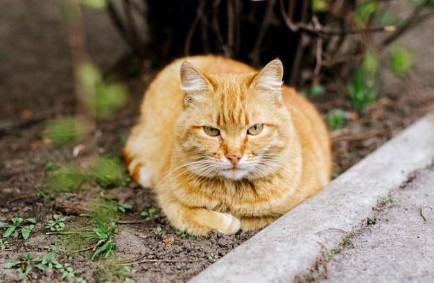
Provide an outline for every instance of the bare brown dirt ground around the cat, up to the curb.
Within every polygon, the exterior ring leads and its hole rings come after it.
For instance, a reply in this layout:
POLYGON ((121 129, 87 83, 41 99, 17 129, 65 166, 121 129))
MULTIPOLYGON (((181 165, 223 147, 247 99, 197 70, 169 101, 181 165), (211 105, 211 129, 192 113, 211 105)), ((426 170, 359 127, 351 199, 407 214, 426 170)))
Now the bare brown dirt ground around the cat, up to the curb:
MULTIPOLYGON (((84 16, 92 60, 102 70, 110 69, 125 53, 125 44, 105 13, 85 11, 84 16)), ((347 121, 345 128, 331 133, 336 174, 433 110, 432 26, 426 22, 402 38, 414 54, 410 74, 401 80, 384 74, 381 98, 359 113, 357 119, 347 121)), ((150 64, 153 65, 159 62, 150 64)), ((124 82, 130 91, 128 103, 112 119, 97 125, 100 151, 120 155, 121 137, 128 135, 137 121, 137 106, 156 71, 148 67, 141 78, 124 82)), ((49 119, 73 114, 76 109, 71 54, 58 1, 40 1, 37 5, 35 1, 1 1, 0 101, 0 221, 10 222, 12 217, 21 216, 34 217, 37 222, 26 241, 21 237, 0 238, 10 244, 0 249, 0 282, 19 282, 17 268, 3 268, 6 261, 18 260, 27 252, 32 252, 33 257, 46 255, 49 250, 44 246, 51 245, 57 248, 55 258, 62 264, 71 264, 76 271, 66 281, 76 282, 82 277, 86 282, 128 282, 129 279, 184 282, 214 259, 218 260, 213 255, 223 257, 254 235, 241 232, 225 236, 212 232, 209 237, 189 239, 166 225, 163 217, 143 223, 116 223, 112 237, 116 249, 107 259, 96 257, 92 261, 93 251, 87 248, 93 248, 94 242, 74 234, 46 234, 45 226, 53 214, 66 217, 65 232, 94 228, 94 222, 78 214, 86 212, 89 200, 98 198, 102 191, 99 187, 89 187, 76 194, 56 194, 53 198, 42 197, 35 191, 44 183, 46 164, 52 160, 73 161, 72 151, 77 146, 55 148, 44 143, 42 137, 49 119), (156 234, 158 227, 161 232, 156 234)), ((345 94, 338 92, 317 97, 313 102, 324 114, 333 108, 351 110, 345 94)), ((142 220, 141 212, 157 207, 150 191, 133 182, 104 193, 113 194, 119 203, 132 205, 132 209, 117 216, 120 221, 142 220)), ((40 271, 34 266, 27 278, 30 282, 57 282, 61 277, 58 269, 40 271)))

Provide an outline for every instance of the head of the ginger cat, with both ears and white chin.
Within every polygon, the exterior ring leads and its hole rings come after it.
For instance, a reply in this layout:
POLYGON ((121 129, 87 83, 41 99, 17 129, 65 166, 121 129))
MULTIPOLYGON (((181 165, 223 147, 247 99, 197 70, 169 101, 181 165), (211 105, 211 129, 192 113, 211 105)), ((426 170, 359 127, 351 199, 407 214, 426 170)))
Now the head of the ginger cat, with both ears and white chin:
POLYGON ((281 166, 293 126, 282 102, 279 60, 258 73, 215 75, 184 62, 180 74, 184 107, 175 136, 186 169, 238 181, 281 166))

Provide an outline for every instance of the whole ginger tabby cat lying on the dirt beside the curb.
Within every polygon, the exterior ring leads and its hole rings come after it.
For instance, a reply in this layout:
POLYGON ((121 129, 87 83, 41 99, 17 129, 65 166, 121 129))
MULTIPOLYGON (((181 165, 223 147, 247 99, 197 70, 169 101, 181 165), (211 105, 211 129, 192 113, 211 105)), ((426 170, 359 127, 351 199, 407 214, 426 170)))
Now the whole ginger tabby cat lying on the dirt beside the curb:
POLYGON ((176 60, 150 84, 123 154, 177 230, 259 230, 327 185, 327 128, 306 99, 261 71, 212 55, 176 60))

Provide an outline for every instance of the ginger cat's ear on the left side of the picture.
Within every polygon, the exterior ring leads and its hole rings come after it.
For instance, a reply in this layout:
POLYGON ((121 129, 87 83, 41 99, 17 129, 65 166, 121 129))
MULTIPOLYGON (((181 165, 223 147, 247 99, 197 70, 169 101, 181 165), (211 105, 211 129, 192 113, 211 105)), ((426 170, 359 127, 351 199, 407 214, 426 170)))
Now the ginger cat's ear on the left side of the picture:
POLYGON ((181 89, 184 90, 184 104, 197 101, 212 89, 209 80, 189 62, 181 65, 181 89))

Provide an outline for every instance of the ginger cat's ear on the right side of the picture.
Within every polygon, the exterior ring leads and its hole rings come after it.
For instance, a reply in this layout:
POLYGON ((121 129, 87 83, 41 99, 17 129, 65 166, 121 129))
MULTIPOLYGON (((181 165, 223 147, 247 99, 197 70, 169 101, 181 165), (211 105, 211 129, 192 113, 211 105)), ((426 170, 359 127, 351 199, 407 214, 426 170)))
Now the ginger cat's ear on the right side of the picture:
POLYGON ((259 74, 253 79, 250 87, 260 89, 271 94, 278 100, 281 99, 281 85, 284 76, 284 67, 281 61, 276 59, 263 67, 259 74))

